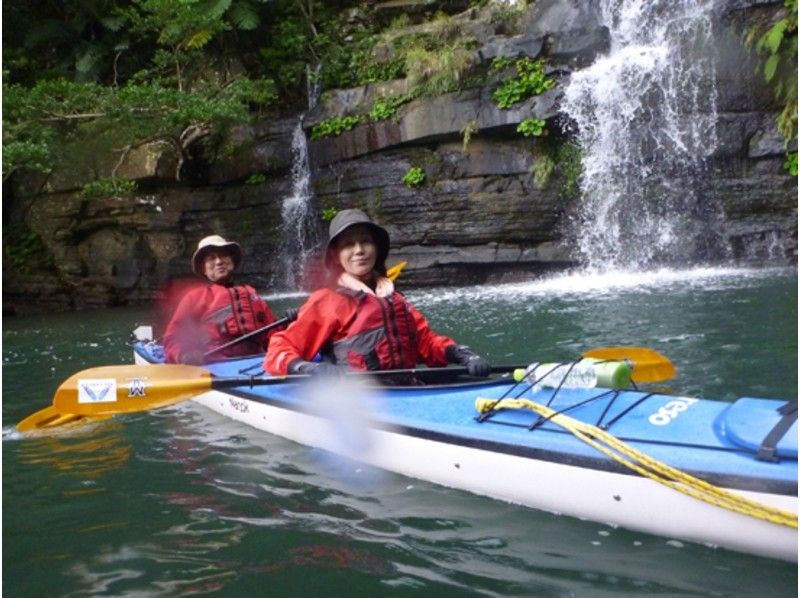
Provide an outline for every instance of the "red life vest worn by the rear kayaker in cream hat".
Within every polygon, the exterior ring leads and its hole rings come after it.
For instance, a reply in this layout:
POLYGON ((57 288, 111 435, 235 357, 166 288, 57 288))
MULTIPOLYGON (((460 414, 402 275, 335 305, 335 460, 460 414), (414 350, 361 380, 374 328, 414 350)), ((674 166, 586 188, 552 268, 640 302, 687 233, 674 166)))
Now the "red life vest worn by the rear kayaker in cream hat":
POLYGON ((250 285, 212 284, 208 292, 203 323, 214 328, 214 337, 238 338, 269 323, 267 305, 250 285))

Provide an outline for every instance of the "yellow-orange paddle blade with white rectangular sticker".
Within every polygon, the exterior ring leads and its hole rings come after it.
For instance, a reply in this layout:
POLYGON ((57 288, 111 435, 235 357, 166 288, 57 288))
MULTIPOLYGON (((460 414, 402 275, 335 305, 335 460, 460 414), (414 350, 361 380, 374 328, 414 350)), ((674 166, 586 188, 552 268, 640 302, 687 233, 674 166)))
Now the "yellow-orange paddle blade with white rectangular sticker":
POLYGON ((211 373, 193 365, 109 365, 74 374, 58 387, 61 413, 114 415, 166 407, 211 390, 211 373))

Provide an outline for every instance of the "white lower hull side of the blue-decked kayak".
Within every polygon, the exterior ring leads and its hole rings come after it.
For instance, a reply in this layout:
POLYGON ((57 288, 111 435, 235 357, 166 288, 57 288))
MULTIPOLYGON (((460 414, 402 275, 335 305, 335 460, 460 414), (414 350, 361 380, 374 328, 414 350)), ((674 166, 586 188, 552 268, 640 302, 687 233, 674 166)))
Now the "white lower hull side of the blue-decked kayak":
MULTIPOLYGON (((647 478, 539 461, 409 436, 364 430, 343 437, 330 419, 224 392, 195 402, 256 429, 412 478, 631 530, 797 560, 797 530, 723 509, 647 478)), ((797 498, 737 490, 797 512, 797 498)))

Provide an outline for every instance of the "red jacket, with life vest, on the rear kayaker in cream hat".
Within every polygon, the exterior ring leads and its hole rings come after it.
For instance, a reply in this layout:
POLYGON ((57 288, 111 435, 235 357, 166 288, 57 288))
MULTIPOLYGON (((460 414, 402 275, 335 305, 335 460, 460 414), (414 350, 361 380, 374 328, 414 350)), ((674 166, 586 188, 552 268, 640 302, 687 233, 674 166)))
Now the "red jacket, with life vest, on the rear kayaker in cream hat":
MULTIPOLYGON (((178 303, 164 333, 168 363, 186 363, 240 336, 271 324, 277 318, 250 285, 209 284, 187 292, 178 303)), ((212 359, 253 355, 266 350, 268 331, 219 351, 212 359)), ((194 360, 197 362, 197 360, 194 360)))

